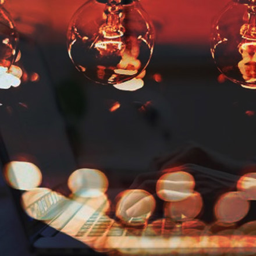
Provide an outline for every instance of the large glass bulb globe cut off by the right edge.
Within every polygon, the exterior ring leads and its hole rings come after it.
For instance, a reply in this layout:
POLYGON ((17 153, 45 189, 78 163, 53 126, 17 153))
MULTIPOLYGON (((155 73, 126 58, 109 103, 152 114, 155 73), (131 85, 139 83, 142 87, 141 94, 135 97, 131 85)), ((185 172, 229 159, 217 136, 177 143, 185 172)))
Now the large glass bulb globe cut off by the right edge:
POLYGON ((234 83, 256 88, 256 1, 233 0, 212 27, 218 69, 234 83))

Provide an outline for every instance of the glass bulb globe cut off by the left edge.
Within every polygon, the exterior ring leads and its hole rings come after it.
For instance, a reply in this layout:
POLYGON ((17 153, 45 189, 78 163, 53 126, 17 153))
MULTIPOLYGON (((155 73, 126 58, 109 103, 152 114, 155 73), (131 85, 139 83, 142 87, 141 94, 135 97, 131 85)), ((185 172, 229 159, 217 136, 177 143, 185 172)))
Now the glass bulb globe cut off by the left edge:
POLYGON ((15 61, 18 41, 12 18, 0 5, 0 75, 6 73, 15 61))

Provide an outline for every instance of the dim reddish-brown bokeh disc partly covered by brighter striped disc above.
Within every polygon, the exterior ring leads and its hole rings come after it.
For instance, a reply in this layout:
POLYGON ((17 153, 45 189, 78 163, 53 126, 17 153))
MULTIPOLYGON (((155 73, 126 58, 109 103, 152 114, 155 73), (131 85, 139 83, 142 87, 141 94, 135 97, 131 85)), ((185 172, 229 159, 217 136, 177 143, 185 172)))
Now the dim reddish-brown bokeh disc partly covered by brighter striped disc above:
POLYGON ((166 218, 176 221, 194 219, 202 210, 202 197, 198 192, 194 192, 185 200, 166 202, 164 210, 166 218))

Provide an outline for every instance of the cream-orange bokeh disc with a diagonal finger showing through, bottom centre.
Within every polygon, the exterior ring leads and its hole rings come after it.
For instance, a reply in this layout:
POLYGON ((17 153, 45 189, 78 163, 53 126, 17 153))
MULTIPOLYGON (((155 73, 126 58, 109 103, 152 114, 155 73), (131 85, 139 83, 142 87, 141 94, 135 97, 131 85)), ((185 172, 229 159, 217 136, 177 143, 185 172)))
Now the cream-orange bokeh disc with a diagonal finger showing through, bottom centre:
POLYGON ((126 190, 118 198, 116 216, 129 225, 144 225, 155 209, 154 197, 145 190, 126 190))

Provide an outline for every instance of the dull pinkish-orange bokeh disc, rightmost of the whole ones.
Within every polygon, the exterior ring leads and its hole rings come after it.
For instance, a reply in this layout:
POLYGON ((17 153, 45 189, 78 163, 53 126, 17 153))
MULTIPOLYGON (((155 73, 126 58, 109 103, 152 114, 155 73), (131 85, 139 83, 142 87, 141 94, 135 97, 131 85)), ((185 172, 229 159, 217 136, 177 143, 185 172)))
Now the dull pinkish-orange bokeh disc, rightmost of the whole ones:
POLYGON ((250 204, 243 192, 229 192, 221 196, 215 205, 215 216, 220 222, 233 223, 243 219, 250 204))

